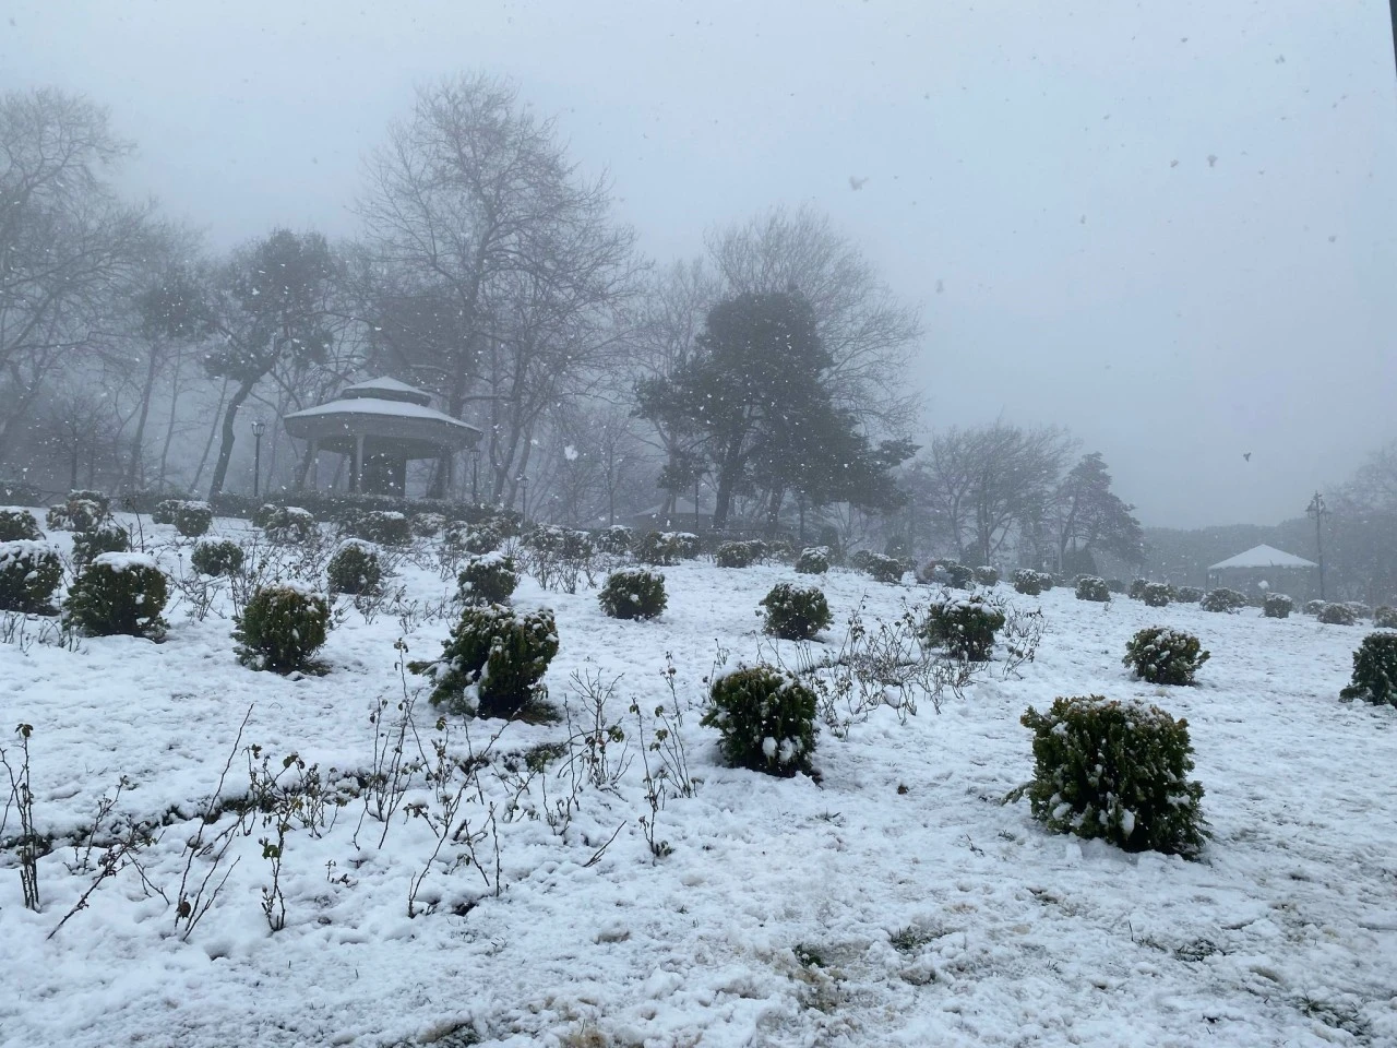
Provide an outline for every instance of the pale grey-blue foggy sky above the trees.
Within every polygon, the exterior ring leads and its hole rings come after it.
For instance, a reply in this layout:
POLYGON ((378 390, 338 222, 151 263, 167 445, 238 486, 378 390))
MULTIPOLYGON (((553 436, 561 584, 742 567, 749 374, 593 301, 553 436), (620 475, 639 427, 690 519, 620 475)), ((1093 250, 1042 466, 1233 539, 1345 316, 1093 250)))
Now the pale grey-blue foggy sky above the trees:
POLYGON ((1387 7, 8 0, 0 88, 109 105, 131 191, 226 247, 352 233, 414 85, 510 75, 659 260, 828 211, 923 307, 929 425, 1058 422, 1146 524, 1274 523, 1397 437, 1387 7))

